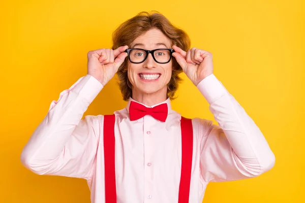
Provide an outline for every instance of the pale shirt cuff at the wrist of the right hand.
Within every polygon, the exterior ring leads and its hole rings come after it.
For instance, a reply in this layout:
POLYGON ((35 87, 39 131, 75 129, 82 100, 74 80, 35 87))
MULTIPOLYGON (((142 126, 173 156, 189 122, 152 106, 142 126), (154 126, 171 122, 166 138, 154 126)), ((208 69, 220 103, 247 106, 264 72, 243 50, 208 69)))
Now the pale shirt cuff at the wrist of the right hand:
POLYGON ((204 98, 207 100, 209 104, 212 104, 222 95, 227 93, 226 88, 216 78, 214 74, 211 74, 206 78, 204 78, 203 80, 201 80, 197 84, 197 88, 199 89, 199 91, 201 92, 201 94, 204 96, 204 98))

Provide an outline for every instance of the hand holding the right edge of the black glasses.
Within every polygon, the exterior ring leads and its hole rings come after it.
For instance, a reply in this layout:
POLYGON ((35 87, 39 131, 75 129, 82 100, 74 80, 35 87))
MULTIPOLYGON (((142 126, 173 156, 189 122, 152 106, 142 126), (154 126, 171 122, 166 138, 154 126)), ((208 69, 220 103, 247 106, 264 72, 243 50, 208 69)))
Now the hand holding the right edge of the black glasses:
POLYGON ((177 46, 172 46, 175 50, 173 56, 176 58, 182 70, 194 85, 213 74, 212 54, 197 48, 192 48, 185 52, 177 46))

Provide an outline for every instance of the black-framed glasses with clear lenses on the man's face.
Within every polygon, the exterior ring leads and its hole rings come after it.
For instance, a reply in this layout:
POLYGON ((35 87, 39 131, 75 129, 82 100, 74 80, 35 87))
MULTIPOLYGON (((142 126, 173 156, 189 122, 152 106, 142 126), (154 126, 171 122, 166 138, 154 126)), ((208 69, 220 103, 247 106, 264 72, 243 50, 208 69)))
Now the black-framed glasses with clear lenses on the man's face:
POLYGON ((126 49, 125 52, 128 53, 129 61, 132 63, 142 63, 146 60, 149 53, 153 56, 157 63, 168 63, 172 57, 172 53, 175 52, 173 49, 126 49))

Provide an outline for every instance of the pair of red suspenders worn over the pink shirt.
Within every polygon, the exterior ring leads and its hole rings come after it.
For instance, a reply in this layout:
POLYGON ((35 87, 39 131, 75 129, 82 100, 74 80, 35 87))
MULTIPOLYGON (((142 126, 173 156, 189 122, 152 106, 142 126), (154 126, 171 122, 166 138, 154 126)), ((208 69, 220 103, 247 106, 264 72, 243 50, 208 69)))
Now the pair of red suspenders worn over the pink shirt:
MULTIPOLYGON (((116 203, 114 115, 104 116, 105 202, 116 203)), ((181 117, 181 177, 178 203, 188 203, 193 157, 192 119, 181 117)))

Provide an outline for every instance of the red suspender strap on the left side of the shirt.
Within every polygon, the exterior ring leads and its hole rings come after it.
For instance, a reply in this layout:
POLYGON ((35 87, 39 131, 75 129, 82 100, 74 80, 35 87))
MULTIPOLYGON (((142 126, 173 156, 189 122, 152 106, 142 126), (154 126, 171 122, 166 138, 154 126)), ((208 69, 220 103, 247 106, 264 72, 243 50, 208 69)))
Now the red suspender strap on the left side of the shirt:
POLYGON ((104 115, 105 202, 116 203, 114 115, 104 115))

